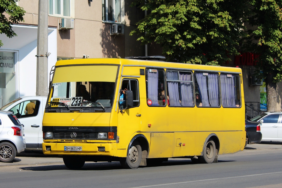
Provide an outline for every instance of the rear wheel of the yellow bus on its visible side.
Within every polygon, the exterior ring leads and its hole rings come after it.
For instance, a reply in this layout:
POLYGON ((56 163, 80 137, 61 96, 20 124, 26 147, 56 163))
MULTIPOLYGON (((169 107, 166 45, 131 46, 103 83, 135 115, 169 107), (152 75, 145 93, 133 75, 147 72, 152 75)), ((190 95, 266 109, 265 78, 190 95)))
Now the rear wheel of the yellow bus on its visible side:
POLYGON ((216 148, 213 140, 209 140, 203 150, 200 160, 202 163, 212 163, 216 156, 216 148))

